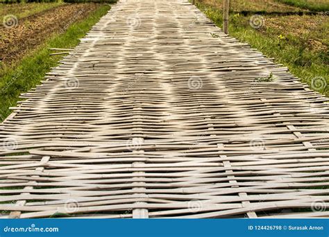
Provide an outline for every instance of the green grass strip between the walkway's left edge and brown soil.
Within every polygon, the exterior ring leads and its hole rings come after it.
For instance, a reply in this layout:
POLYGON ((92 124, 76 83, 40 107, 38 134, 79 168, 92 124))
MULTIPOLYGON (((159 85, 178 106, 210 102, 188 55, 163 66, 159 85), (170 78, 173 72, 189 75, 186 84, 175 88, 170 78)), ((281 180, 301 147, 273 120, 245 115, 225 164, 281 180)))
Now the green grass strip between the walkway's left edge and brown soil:
POLYGON ((99 6, 83 21, 71 24, 62 34, 54 33, 47 42, 30 52, 15 67, 5 67, 0 75, 0 119, 3 121, 10 114, 8 107, 15 106, 19 95, 35 87, 50 71, 56 67, 60 55, 49 55, 47 48, 73 48, 99 19, 108 12, 110 6, 99 6))

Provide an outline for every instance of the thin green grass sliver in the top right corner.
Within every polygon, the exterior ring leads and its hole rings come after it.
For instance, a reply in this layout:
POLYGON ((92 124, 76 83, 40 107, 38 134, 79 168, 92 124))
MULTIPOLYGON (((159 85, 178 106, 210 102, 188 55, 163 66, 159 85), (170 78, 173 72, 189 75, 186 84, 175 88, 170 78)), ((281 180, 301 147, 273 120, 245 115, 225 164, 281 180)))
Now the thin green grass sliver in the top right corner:
POLYGON ((329 11, 328 0, 277 0, 277 1, 288 4, 290 6, 296 6, 298 8, 314 10, 317 12, 329 11))

